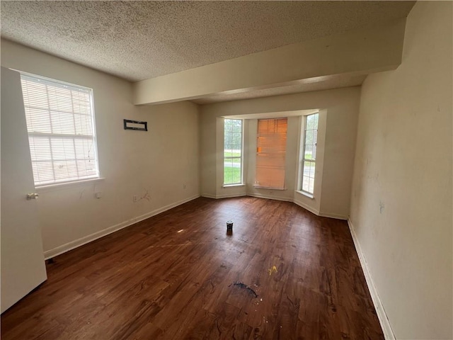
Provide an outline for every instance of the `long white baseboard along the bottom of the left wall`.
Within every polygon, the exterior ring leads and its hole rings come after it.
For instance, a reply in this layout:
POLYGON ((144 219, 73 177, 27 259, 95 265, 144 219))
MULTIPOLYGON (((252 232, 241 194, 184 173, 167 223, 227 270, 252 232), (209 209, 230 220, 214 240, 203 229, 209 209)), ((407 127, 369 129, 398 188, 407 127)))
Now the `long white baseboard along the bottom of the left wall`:
POLYGON ((44 252, 44 257, 45 259, 50 259, 52 257, 55 257, 57 255, 66 253, 69 250, 75 249, 79 246, 83 246, 84 244, 87 244, 89 242, 93 242, 95 239, 99 239, 101 237, 104 237, 108 234, 111 234, 113 232, 116 232, 117 230, 123 229, 125 227, 129 227, 130 225, 133 225, 134 223, 140 222, 142 220, 146 220, 149 217, 152 217, 154 215, 158 215, 161 212, 164 212, 166 210, 170 210, 171 208, 175 208, 178 205, 184 204, 189 202, 190 200, 195 200, 195 198, 199 198, 200 196, 192 196, 190 198, 185 198, 184 200, 180 200, 175 203, 171 203, 169 205, 165 205, 164 207, 158 208, 156 210, 153 210, 151 212, 147 212, 144 215, 140 215, 138 217, 133 217, 130 220, 118 223, 117 225, 113 225, 111 227, 105 228, 103 230, 100 230, 98 232, 94 232, 93 234, 89 234, 85 237, 81 237, 80 239, 75 239, 74 241, 68 242, 67 244, 62 244, 61 246, 57 246, 53 249, 47 250, 44 252))

